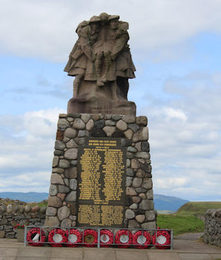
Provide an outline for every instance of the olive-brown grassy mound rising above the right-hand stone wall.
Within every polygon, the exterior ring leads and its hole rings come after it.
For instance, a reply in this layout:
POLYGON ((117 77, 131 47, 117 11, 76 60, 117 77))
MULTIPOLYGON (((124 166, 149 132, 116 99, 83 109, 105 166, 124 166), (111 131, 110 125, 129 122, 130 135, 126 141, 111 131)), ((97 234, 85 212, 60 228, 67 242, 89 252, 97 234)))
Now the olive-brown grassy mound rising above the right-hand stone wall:
POLYGON ((221 208, 220 201, 191 201, 185 203, 177 210, 176 214, 180 216, 204 215, 209 208, 221 208))

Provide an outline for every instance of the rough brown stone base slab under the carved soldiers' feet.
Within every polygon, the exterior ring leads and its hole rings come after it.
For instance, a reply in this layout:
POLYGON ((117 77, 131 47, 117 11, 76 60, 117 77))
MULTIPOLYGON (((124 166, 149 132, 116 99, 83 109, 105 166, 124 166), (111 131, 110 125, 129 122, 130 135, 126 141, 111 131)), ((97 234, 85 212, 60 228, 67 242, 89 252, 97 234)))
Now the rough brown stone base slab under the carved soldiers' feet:
POLYGON ((124 99, 99 99, 99 97, 77 97, 68 101, 68 114, 136 114, 136 105, 124 99))

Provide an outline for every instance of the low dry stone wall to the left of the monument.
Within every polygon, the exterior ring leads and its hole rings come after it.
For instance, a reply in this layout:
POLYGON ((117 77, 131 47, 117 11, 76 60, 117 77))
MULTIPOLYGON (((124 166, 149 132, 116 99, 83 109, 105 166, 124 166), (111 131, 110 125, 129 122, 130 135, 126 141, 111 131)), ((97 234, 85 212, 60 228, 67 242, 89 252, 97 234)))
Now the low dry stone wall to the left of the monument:
POLYGON ((16 238, 16 232, 13 222, 19 223, 21 226, 29 223, 33 226, 43 226, 45 221, 46 207, 8 204, 4 203, 0 206, 0 237, 8 239, 16 238))

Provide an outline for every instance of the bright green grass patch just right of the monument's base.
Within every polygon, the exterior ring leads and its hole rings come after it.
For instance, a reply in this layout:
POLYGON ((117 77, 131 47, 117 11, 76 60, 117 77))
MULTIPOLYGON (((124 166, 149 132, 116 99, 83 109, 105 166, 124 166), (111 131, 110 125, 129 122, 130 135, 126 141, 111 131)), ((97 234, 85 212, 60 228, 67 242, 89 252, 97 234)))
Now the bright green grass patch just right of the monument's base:
POLYGON ((177 214, 158 214, 157 226, 173 230, 174 235, 204 231, 204 221, 196 217, 179 216, 177 214))

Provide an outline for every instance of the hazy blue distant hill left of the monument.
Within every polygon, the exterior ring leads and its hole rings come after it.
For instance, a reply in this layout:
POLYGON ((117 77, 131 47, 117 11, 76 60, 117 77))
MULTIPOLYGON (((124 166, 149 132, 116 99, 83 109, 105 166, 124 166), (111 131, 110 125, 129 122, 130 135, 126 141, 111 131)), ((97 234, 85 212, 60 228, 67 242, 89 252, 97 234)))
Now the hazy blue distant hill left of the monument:
POLYGON ((48 199, 47 192, 0 192, 0 198, 18 199, 24 202, 40 202, 48 199))

